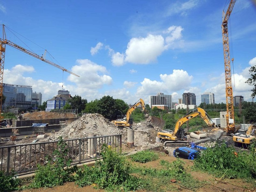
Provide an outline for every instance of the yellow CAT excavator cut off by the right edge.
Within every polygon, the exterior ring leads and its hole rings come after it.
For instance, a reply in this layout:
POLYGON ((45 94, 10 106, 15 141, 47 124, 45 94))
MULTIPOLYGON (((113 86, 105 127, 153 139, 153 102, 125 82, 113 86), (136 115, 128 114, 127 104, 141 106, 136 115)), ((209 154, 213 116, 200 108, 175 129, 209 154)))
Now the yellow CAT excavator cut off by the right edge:
POLYGON ((246 147, 256 140, 256 124, 251 124, 245 135, 242 132, 235 133, 233 141, 235 146, 246 147))

